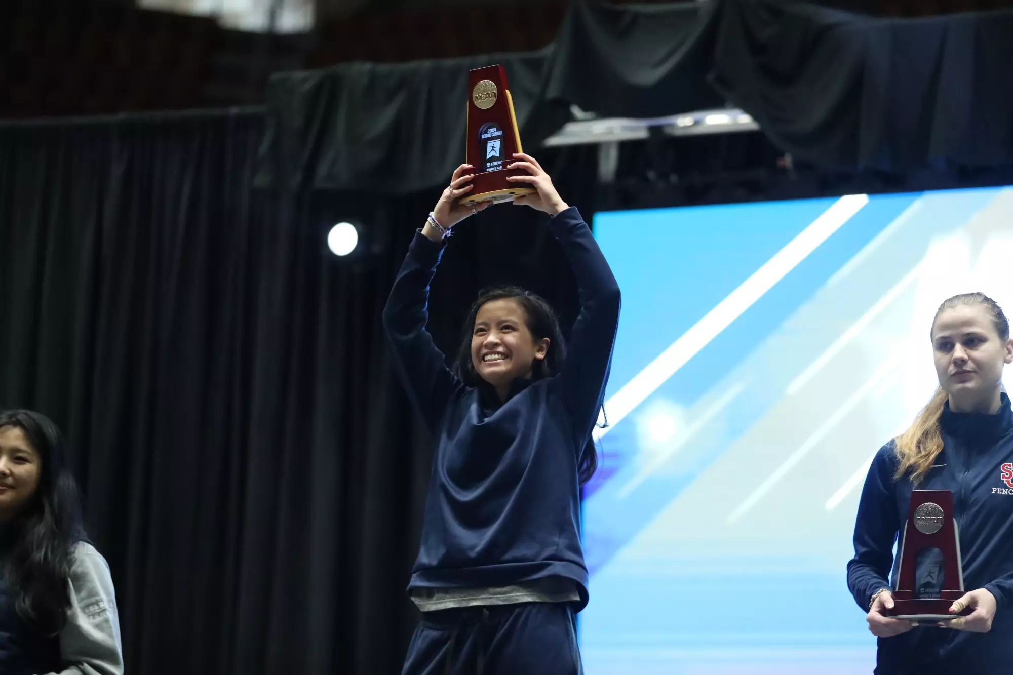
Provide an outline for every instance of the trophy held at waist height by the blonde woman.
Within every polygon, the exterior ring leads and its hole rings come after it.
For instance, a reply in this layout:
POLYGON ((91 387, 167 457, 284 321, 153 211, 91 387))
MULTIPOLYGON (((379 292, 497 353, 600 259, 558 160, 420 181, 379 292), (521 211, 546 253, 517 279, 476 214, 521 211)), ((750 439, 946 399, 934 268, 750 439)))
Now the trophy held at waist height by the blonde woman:
POLYGON ((883 614, 911 621, 947 621, 973 609, 950 612, 963 595, 960 537, 953 519, 953 493, 916 490, 901 539, 901 569, 893 608, 883 614))

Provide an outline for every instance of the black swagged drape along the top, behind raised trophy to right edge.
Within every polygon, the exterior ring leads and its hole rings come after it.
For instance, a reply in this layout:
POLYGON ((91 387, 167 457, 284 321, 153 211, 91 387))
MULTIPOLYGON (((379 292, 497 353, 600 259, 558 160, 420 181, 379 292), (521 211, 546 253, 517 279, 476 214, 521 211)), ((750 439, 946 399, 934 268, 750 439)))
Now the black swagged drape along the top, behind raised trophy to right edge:
POLYGON ((727 101, 822 166, 1009 165, 1011 34, 1013 11, 893 19, 794 0, 577 0, 538 53, 275 76, 258 183, 439 184, 464 155, 467 71, 495 63, 529 148, 570 119, 570 104, 649 118, 727 101))

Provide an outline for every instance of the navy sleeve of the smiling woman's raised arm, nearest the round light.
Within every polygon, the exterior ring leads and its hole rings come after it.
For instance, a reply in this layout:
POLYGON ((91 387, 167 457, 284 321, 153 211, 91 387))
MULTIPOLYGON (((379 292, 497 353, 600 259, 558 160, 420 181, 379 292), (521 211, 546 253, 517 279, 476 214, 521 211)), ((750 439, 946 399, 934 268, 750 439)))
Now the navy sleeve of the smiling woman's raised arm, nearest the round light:
POLYGON ((430 283, 443 249, 443 242, 415 232, 383 310, 384 329, 401 380, 434 436, 457 382, 425 330, 430 283))

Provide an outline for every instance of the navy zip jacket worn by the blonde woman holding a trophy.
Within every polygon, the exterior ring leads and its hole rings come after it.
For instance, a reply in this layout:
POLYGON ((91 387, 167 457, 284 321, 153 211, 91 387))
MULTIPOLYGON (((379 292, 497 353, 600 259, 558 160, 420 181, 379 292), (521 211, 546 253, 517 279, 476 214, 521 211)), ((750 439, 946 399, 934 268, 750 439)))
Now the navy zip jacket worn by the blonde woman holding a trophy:
MULTIPOLYGON (((998 609, 987 633, 918 626, 880 638, 877 675, 1013 672, 1013 411, 1002 394, 996 415, 957 414, 943 408, 943 450, 919 490, 953 493, 954 518, 963 559, 963 588, 989 590, 998 609)), ((848 562, 848 588, 863 611, 872 594, 895 588, 900 559, 892 547, 908 518, 914 486, 893 479, 893 442, 869 468, 855 522, 855 557, 848 562)), ((898 556, 900 558, 900 556, 898 556)))

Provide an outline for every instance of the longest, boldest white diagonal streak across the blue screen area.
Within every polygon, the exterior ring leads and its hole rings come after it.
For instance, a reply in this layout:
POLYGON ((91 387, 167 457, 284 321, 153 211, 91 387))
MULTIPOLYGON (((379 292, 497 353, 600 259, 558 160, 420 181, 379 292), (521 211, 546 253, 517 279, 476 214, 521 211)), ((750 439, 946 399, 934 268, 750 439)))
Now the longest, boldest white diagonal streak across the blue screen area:
POLYGON ((794 239, 767 260, 743 282, 724 300, 697 321, 667 350, 637 373, 611 398, 605 401, 610 426, 595 429, 596 439, 605 436, 609 429, 633 411, 647 396, 672 377, 700 350, 724 330, 753 303, 774 287, 789 272, 804 260, 809 253, 826 241, 842 225, 869 203, 867 195, 846 195, 802 230, 794 239))

